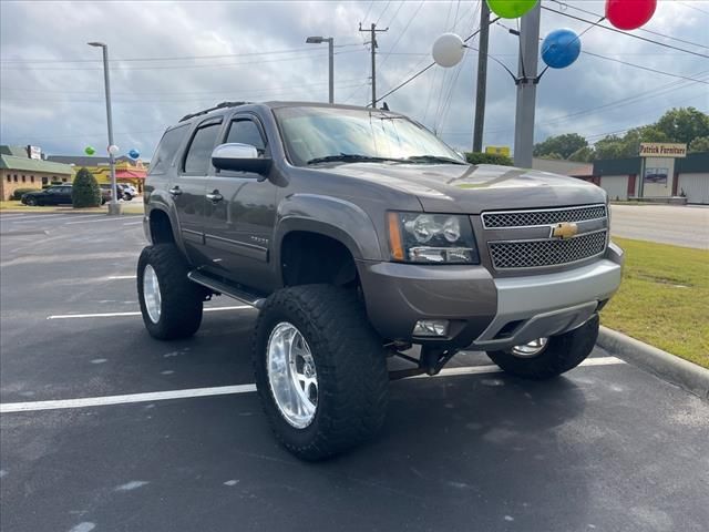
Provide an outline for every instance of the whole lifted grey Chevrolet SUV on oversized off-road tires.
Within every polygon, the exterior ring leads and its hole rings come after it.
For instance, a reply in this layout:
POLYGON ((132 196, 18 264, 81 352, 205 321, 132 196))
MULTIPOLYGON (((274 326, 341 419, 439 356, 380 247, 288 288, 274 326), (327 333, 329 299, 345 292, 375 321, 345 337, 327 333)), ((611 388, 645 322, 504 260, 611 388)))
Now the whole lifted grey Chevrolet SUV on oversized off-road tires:
POLYGON ((257 388, 307 460, 370 438, 390 378, 435 375, 461 349, 522 378, 574 368, 620 283, 602 188, 470 165, 389 111, 225 102, 187 115, 144 201, 145 327, 191 336, 214 295, 258 308, 257 388), (411 368, 390 374, 391 356, 411 368))

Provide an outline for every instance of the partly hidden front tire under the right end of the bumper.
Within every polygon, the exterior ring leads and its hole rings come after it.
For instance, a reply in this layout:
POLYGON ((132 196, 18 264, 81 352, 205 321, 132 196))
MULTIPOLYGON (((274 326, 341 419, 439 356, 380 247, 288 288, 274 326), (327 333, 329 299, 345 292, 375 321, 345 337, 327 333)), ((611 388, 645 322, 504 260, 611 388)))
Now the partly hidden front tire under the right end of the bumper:
POLYGON ((510 351, 487 351, 487 356, 507 374, 531 380, 557 377, 583 362, 598 338, 598 315, 574 330, 552 336, 546 348, 534 357, 522 358, 510 351))

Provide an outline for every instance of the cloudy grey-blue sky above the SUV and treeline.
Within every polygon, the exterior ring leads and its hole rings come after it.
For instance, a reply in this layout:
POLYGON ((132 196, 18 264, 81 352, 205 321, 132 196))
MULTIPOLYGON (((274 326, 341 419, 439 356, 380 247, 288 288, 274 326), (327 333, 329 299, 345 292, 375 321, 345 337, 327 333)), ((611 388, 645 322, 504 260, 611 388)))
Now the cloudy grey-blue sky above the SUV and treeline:
MULTIPOLYGON (((542 38, 557 28, 588 29, 568 16, 597 21, 590 13, 602 14, 604 4, 543 0, 542 38)), ((150 157, 166 126, 225 100, 326 101, 327 44, 306 44, 307 35, 336 39, 336 101, 363 105, 371 94, 370 55, 360 21, 389 28, 378 34, 383 94, 431 62, 438 35, 473 33, 480 2, 2 1, 0 143, 34 144, 49 154, 104 150, 100 49, 85 44, 94 40, 110 45, 122 153, 136 149, 150 157)), ((491 28, 490 53, 515 70, 518 42, 505 27, 516 21, 501 22, 491 28)), ((541 81, 535 141, 577 132, 593 142, 653 122, 672 106, 709 111, 708 29, 709 1, 699 0, 660 0, 646 31, 631 32, 684 51, 592 28, 578 61, 541 81)), ((470 149, 476 62, 476 52, 467 51, 459 66, 434 66, 386 101, 451 145, 470 149)), ((484 143, 512 145, 514 83, 494 62, 487 83, 484 143)))

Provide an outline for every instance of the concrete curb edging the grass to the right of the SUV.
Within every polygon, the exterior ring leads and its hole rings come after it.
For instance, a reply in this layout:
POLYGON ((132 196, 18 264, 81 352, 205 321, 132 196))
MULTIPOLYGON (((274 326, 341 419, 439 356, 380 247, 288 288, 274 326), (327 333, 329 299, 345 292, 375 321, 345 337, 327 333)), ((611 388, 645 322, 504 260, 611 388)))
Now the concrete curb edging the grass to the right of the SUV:
POLYGON ((709 369, 603 326, 598 331, 598 345, 656 377, 709 401, 709 369))

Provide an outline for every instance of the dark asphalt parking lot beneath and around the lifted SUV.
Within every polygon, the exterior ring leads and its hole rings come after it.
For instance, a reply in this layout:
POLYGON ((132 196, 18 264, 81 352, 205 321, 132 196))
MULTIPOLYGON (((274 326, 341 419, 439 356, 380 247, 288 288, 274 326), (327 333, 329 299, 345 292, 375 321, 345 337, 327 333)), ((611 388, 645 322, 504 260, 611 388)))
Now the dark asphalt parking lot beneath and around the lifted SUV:
POLYGON ((461 355, 392 383, 374 442, 304 463, 249 386, 254 310, 145 332, 140 217, 0 235, 3 531, 707 530, 709 405, 602 349, 544 383, 461 355))

